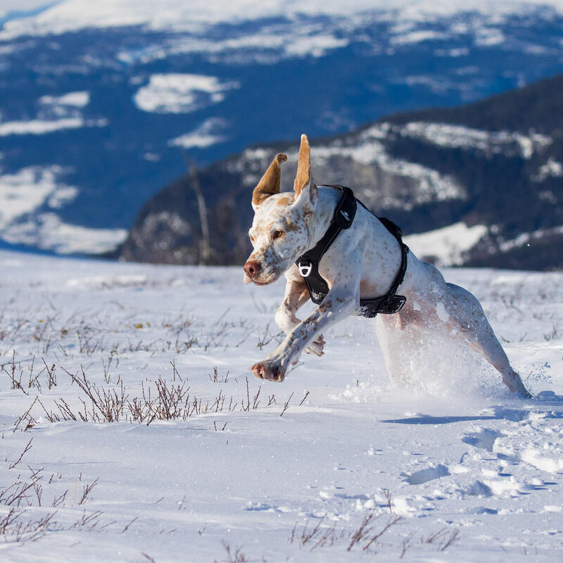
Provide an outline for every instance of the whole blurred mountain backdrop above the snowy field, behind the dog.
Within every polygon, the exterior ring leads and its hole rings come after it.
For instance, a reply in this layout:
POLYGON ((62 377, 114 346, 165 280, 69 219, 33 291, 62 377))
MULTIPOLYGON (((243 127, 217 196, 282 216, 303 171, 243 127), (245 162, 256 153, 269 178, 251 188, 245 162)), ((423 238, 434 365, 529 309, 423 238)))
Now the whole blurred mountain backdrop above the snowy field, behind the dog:
POLYGON ((563 0, 0 0, 0 246, 241 264, 305 132, 419 257, 562 268, 562 72, 563 0))

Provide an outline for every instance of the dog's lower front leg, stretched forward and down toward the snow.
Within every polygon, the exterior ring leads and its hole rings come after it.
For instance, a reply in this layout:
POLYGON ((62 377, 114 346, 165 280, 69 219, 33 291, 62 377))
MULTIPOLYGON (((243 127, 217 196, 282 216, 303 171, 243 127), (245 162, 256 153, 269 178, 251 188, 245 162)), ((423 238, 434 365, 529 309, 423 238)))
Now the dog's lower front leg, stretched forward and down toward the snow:
MULTIPOLYGON (((359 280, 359 277, 352 276, 350 279, 359 280)), ((260 379, 284 381, 287 370, 297 363, 308 343, 332 324, 353 313, 359 304, 359 281, 355 286, 340 286, 335 282, 324 301, 303 322, 293 327, 265 360, 251 367, 253 374, 260 379)))

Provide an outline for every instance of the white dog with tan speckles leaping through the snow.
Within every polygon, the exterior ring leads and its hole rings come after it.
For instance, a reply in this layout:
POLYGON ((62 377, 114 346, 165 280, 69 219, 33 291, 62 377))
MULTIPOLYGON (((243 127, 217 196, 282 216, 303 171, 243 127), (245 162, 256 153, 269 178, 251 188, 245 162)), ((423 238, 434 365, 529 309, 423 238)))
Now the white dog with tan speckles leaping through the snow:
POLYGON ((341 209, 342 217, 335 217, 347 189, 315 185, 305 135, 301 136, 294 191, 280 193, 281 163, 286 160, 282 153, 274 158, 252 198, 255 215, 248 235, 253 251, 243 266, 243 281, 263 286, 282 274, 286 277, 284 300, 275 315, 286 337, 251 367, 256 377, 283 381, 303 351, 323 355, 322 333, 348 315, 362 314, 363 304, 371 298, 380 308, 376 307, 375 312, 372 308, 367 316, 376 317, 377 336, 392 379, 405 377, 404 358, 397 353, 398 347, 407 342, 404 335, 410 334, 412 341, 413 332, 435 331, 476 350, 500 372, 512 393, 531 397, 510 367, 472 293, 446 283, 434 265, 421 262, 408 251, 400 229, 388 220, 379 220, 361 204, 356 205, 359 202, 348 198, 351 203, 341 209), (348 221, 353 213, 353 220, 348 221), (342 220, 341 228, 322 256, 317 252, 317 262, 299 262, 300 257, 314 253, 311 249, 318 250, 319 241, 327 239, 327 228, 333 229, 336 220, 342 220), (310 288, 312 270, 317 278, 320 276, 320 282, 326 282, 326 295, 316 295, 310 288), (382 297, 374 300, 376 296, 382 297), (317 308, 299 320, 296 313, 310 298, 318 303, 317 308))

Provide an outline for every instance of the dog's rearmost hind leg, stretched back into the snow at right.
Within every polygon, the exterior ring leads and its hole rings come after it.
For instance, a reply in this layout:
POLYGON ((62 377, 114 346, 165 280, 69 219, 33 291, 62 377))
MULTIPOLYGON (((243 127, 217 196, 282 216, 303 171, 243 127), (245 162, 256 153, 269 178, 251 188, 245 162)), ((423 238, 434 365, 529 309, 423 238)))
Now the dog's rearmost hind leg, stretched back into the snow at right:
POLYGON ((445 322, 450 335, 463 339, 473 350, 483 355, 502 375, 503 383, 524 398, 531 398, 520 376, 510 367, 505 350, 477 299, 460 286, 448 285, 450 299, 444 298, 436 305, 436 313, 445 322), (448 317, 447 319, 445 317, 448 317))

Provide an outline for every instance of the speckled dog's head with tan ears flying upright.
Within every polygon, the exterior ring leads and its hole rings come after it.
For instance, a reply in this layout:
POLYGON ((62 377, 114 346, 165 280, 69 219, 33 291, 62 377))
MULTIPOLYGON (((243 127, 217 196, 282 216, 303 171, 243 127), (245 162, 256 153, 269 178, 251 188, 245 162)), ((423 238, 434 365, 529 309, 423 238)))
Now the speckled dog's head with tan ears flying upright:
POLYGON ((252 196, 254 220, 248 232, 254 250, 244 265, 244 283, 271 284, 289 270, 310 245, 310 221, 318 190, 312 181, 309 141, 301 135, 297 175, 290 192, 279 193, 280 153, 262 176, 252 196))

